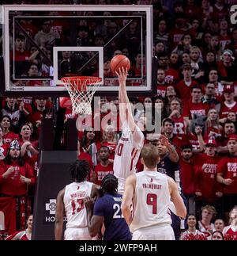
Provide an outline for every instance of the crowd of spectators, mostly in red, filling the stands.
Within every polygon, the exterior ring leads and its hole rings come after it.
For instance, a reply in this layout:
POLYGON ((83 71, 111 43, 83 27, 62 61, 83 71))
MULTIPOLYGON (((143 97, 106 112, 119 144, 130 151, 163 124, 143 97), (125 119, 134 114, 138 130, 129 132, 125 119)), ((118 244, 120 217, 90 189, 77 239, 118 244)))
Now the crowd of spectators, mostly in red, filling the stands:
MULTIPOLYGON (((52 0, 38 3, 72 4, 52 0)), ((95 4, 89 0, 77 3, 95 4)), ((161 133, 172 147, 166 147, 164 137, 157 137, 153 131, 144 129, 142 132, 145 143, 154 143, 159 148, 158 171, 175 179, 186 203, 188 216, 181 227, 179 223, 180 239, 237 239, 237 27, 230 21, 234 1, 98 0, 97 3, 153 5, 152 57, 157 63, 156 94, 151 97, 134 95, 130 102, 137 122, 154 124, 156 112, 161 111, 161 133), (143 103, 144 109, 136 109, 137 103, 143 103), (149 109, 151 117, 146 114, 149 109)), ((89 45, 90 40, 103 46, 107 36, 111 38, 119 27, 115 22, 104 21, 92 33, 85 21, 80 22, 77 45, 81 46, 89 45)), ((30 21, 21 25, 32 32, 42 52, 30 44, 30 48, 25 48, 25 36, 15 37, 18 75, 49 75, 51 46, 55 44, 51 42, 64 40, 67 44, 66 34, 62 32, 68 29, 68 24, 60 27, 54 21, 44 20, 42 30, 30 21), (22 65, 25 59, 28 64, 22 65)), ((130 39, 136 40, 135 23, 127 32, 127 41, 130 39)), ((130 41, 129 46, 133 44, 136 42, 130 41)), ((134 66, 129 73, 141 75, 144 68, 141 53, 133 52, 129 46, 121 44, 121 48, 115 48, 118 52, 112 52, 109 58, 121 53, 133 58, 134 66)), ((63 62, 70 57, 70 52, 62 53, 62 69, 74 73, 76 64, 63 62)), ((104 63, 107 74, 111 74, 109 58, 104 63)), ((42 83, 28 81, 31 82, 32 86, 42 83)), ((0 211, 16 199, 17 212, 13 218, 20 231, 32 212, 41 121, 57 118, 58 105, 53 97, 1 97, 1 100, 0 211), (6 197, 9 201, 2 201, 6 197)), ((84 131, 78 132, 78 159, 88 160, 91 166, 88 180, 100 185, 106 174, 113 174, 121 126, 118 97, 100 97, 98 103, 100 115, 93 109, 92 126, 85 125, 84 131), (110 117, 108 124, 102 131, 96 131, 93 124, 107 115, 110 117)), ((71 107, 64 110, 64 124, 69 119, 77 119, 71 107)), ((137 171, 142 170, 138 161, 137 171)), ((11 231, 7 234, 2 231, 2 239, 4 234, 11 235, 11 231)))

